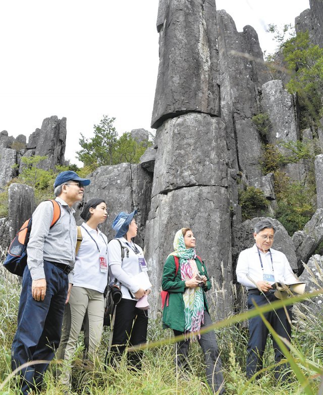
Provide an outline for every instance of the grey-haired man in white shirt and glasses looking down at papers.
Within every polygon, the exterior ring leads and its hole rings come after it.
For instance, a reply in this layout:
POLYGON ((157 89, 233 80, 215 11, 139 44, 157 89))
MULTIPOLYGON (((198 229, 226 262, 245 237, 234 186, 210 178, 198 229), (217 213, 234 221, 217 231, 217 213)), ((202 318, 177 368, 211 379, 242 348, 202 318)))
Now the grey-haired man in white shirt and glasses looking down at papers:
MULTIPOLYGON (((237 280, 248 290, 249 310, 254 308, 254 303, 261 306, 278 300, 274 295, 275 283, 291 284, 297 281, 285 254, 271 248, 275 231, 276 228, 269 219, 257 222, 253 233, 255 244, 242 251, 238 258, 237 280)), ((288 306, 286 309, 281 308, 264 314, 274 330, 288 340, 291 336, 290 311, 291 306, 288 306)), ((267 335, 268 329, 260 316, 249 319, 248 378, 262 369, 262 357, 267 335)), ((277 363, 275 377, 286 380, 288 375, 283 370, 287 368, 287 364, 278 365, 285 357, 274 339, 273 346, 277 363)))

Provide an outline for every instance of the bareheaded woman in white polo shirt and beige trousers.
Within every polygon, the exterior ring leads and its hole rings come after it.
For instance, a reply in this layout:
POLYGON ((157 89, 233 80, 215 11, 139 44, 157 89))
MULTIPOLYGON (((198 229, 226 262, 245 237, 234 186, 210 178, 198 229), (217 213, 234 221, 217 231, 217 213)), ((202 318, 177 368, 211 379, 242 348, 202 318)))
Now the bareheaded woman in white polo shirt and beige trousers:
MULTIPOLYGON (((106 217, 106 204, 102 199, 91 199, 83 208, 82 242, 76 255, 70 299, 64 311, 58 359, 70 360, 73 356, 84 318, 87 357, 95 359, 102 335, 103 292, 107 284, 107 238, 97 226, 106 217)), ((70 386, 70 369, 63 372, 61 381, 70 386)))

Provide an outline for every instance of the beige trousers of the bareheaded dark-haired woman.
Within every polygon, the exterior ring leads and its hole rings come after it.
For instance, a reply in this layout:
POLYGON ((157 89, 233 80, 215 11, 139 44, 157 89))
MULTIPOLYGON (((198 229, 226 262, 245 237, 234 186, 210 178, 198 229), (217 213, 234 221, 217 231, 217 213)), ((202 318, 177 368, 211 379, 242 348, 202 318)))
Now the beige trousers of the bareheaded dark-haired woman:
MULTIPOLYGON (((72 286, 70 300, 65 306, 57 359, 71 360, 84 321, 84 338, 88 343, 86 344, 87 356, 94 361, 101 341, 103 314, 103 293, 89 288, 72 286)), ((61 382, 66 385, 70 384, 70 366, 63 368, 61 382)))

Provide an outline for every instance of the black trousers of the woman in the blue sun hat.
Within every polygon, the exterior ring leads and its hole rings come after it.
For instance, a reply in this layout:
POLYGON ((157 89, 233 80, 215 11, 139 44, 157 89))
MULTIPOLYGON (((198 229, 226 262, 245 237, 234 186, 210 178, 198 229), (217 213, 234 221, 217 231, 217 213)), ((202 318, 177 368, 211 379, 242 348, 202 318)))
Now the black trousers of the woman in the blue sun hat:
MULTIPOLYGON (((122 299, 117 305, 111 348, 112 364, 123 354, 127 345, 137 345, 147 341, 148 314, 146 310, 137 309, 136 303, 122 299)), ((142 352, 128 353, 127 359, 132 367, 141 369, 142 352)))

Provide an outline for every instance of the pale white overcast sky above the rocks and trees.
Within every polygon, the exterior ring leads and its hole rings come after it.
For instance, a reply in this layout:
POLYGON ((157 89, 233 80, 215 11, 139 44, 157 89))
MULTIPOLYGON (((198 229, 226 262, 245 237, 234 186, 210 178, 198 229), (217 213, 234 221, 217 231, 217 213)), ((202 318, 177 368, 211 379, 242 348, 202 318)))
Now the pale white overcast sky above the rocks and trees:
MULTIPOLYGON (((253 26, 274 52, 268 23, 294 24, 308 0, 217 0, 238 31, 253 26)), ((158 70, 158 0, 9 0, 0 3, 0 131, 28 136, 67 118, 65 157, 102 115, 120 134, 150 130, 158 70)))

